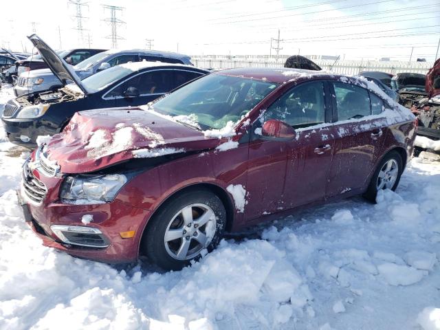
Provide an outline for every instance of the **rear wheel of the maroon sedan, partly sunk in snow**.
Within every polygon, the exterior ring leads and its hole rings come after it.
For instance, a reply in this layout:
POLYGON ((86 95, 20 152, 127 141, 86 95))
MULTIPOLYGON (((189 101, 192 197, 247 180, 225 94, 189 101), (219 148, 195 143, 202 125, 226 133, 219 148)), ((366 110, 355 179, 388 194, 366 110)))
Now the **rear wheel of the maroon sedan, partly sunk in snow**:
POLYGON ((382 189, 396 190, 399 185, 404 166, 397 151, 391 151, 380 161, 366 190, 364 197, 375 202, 377 191, 382 189))

